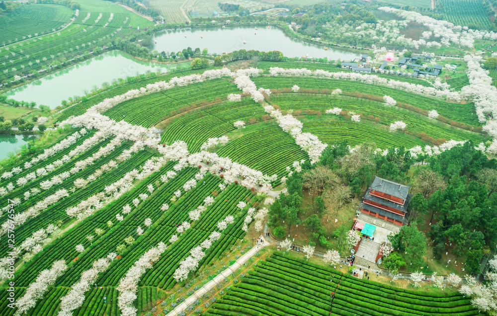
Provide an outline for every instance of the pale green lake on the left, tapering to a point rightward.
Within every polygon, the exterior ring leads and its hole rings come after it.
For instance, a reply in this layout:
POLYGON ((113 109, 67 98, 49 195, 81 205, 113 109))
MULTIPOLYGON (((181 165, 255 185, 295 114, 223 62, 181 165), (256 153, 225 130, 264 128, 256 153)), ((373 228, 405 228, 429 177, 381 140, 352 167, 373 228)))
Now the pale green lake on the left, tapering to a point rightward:
POLYGON ((82 96, 83 90, 90 91, 94 85, 101 87, 103 82, 111 83, 114 79, 145 74, 149 70, 167 72, 189 64, 190 62, 142 62, 121 51, 111 51, 12 89, 5 95, 18 101, 34 101, 36 104, 48 105, 53 109, 60 105, 62 100, 70 96, 82 96))

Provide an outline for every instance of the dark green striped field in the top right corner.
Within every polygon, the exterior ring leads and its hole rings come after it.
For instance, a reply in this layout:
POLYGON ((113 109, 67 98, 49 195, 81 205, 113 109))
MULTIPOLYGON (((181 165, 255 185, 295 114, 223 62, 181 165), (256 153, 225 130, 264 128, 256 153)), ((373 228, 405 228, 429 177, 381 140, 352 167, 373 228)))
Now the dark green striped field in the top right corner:
POLYGON ((440 0, 443 3, 444 19, 456 25, 489 29, 490 19, 480 0, 440 0))

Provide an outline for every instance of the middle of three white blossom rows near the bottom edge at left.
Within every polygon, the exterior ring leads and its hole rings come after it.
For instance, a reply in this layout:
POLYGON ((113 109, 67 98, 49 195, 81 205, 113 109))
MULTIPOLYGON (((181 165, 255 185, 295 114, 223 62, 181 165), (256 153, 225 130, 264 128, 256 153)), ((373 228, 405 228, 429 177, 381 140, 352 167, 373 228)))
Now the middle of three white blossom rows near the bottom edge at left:
POLYGON ((85 299, 84 292, 90 289, 98 275, 107 270, 116 257, 117 253, 111 252, 106 257, 93 261, 91 269, 83 271, 78 282, 74 283, 68 294, 61 298, 60 311, 57 316, 72 316, 74 310, 82 307, 85 299))

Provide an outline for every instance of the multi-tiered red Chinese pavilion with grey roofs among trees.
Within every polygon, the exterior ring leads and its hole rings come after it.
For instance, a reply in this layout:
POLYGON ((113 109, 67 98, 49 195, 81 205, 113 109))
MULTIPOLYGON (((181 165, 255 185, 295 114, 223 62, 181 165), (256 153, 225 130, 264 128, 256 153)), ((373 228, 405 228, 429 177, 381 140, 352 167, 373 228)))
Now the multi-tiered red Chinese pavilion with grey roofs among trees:
POLYGON ((362 199, 361 212, 390 223, 405 225, 412 194, 410 186, 375 177, 362 199))

